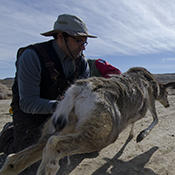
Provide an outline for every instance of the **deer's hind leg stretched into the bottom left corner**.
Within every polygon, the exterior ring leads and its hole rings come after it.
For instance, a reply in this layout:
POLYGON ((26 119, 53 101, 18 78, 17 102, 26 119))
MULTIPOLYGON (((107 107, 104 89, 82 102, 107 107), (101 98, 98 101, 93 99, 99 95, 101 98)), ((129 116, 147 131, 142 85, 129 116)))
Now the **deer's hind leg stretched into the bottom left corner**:
POLYGON ((0 175, 18 175, 30 165, 41 160, 45 145, 46 143, 36 144, 16 154, 10 154, 0 170, 0 175))

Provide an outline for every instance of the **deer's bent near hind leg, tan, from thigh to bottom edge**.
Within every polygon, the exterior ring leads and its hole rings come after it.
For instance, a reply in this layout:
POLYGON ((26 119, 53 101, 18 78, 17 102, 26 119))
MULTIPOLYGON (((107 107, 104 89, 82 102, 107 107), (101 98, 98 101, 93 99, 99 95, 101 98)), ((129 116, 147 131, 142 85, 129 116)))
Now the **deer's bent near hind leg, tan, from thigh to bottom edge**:
POLYGON ((59 170, 59 160, 65 156, 99 151, 107 146, 109 137, 105 136, 102 140, 98 138, 98 133, 95 138, 90 134, 92 133, 84 132, 67 136, 52 136, 43 151, 37 175, 55 175, 59 170))

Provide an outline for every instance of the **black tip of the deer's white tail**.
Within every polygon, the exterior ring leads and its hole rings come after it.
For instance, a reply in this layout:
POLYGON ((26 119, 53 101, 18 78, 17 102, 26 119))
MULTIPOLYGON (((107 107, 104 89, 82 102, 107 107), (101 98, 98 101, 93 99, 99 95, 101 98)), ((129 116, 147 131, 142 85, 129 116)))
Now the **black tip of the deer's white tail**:
POLYGON ((67 119, 61 115, 57 119, 53 119, 53 125, 57 131, 61 131, 67 125, 67 119))

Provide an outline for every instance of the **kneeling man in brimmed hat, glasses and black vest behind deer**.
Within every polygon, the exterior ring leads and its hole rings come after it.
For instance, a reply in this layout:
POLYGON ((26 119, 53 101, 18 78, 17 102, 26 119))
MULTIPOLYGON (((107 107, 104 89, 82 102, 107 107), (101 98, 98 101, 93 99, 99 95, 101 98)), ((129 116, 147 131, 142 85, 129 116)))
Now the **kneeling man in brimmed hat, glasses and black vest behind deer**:
POLYGON ((13 126, 4 127, 0 135, 0 147, 7 155, 36 143, 43 124, 70 84, 90 75, 82 51, 87 38, 96 36, 88 34, 82 19, 59 15, 53 30, 42 35, 54 40, 21 48, 17 53, 13 126))

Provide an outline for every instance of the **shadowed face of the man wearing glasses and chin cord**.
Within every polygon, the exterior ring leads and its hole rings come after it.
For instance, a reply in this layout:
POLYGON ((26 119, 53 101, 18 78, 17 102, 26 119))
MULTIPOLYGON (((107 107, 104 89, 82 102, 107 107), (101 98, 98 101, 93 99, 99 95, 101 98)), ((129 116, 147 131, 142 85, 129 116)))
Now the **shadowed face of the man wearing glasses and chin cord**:
POLYGON ((85 50, 85 46, 87 45, 87 37, 83 37, 83 36, 68 36, 65 39, 65 42, 67 43, 67 46, 70 50, 70 52, 72 53, 72 55, 70 54, 69 50, 67 49, 66 54, 72 58, 72 56, 74 58, 79 57, 79 55, 81 54, 81 52, 83 50, 85 50))

